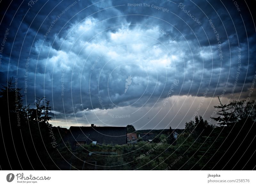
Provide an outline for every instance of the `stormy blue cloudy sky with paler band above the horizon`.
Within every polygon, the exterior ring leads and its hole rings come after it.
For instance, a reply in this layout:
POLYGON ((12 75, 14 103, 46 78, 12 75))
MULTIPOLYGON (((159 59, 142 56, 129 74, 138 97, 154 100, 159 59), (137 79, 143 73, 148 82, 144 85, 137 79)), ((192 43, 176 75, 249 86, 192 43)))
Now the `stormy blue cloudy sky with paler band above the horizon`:
POLYGON ((253 1, 9 3, 0 83, 18 78, 25 104, 50 100, 54 126, 184 128, 218 96, 255 97, 253 1))

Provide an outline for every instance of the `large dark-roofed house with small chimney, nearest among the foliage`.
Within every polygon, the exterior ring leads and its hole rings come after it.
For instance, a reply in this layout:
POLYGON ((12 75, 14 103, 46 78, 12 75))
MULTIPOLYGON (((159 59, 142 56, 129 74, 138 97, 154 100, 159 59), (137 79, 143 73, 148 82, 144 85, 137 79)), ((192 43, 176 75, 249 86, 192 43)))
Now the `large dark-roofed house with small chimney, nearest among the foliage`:
POLYGON ((69 143, 72 150, 84 144, 124 145, 127 143, 126 127, 70 127, 63 142, 69 143))

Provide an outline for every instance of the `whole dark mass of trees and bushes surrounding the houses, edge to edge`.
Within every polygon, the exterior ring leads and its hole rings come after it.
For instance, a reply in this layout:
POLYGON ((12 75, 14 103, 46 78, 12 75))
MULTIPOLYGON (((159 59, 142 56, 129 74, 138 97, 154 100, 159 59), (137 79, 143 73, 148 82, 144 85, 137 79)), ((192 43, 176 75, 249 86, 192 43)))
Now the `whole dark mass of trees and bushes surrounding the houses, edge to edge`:
MULTIPOLYGON (((65 132, 49 121, 49 101, 37 98, 24 105, 12 80, 0 92, 1 169, 62 170, 252 170, 255 169, 254 101, 216 106, 213 126, 201 116, 185 124, 177 139, 172 128, 152 142, 123 146, 82 145, 71 151, 62 143, 65 132)), ((135 128, 129 126, 129 131, 135 128)))

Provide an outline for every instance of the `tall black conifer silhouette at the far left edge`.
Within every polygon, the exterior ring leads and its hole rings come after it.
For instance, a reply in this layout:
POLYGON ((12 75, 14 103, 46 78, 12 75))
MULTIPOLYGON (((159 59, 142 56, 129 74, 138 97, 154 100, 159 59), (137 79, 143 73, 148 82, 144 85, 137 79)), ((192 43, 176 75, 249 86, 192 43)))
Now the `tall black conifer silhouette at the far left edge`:
MULTIPOLYGON (((10 78, 6 86, 0 90, 0 148, 3 150, 0 165, 2 169, 26 169, 25 151, 21 138, 21 129, 25 122, 21 89, 18 88, 18 79, 10 78), (11 161, 9 161, 11 160, 11 161)), ((32 168, 32 167, 31 167, 32 168)))

